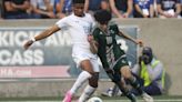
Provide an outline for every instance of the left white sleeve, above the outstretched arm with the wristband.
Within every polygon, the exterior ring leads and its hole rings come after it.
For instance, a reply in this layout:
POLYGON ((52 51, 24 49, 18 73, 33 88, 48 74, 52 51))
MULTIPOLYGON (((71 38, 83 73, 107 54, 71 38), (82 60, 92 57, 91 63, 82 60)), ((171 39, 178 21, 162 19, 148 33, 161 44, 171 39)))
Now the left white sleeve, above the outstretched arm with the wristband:
POLYGON ((58 22, 55 22, 55 24, 60 28, 60 29, 65 29, 68 28, 68 18, 63 18, 61 20, 59 20, 58 22))

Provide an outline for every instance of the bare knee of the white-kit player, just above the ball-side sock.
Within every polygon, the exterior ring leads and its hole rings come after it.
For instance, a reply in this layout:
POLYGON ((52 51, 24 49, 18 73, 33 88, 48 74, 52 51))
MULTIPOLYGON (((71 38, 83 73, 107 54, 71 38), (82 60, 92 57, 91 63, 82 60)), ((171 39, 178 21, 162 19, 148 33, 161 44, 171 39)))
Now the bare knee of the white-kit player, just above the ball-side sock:
POLYGON ((89 84, 93 88, 98 88, 99 73, 92 73, 92 76, 89 80, 89 84))

